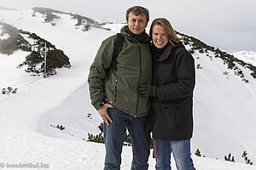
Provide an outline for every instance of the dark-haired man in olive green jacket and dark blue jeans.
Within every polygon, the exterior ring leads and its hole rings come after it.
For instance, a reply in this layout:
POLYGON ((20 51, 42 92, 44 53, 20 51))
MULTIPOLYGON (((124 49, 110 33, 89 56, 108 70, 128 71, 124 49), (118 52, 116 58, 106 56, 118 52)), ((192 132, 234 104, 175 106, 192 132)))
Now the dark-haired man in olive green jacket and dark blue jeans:
POLYGON ((120 31, 124 37, 123 46, 115 62, 116 35, 102 42, 90 66, 91 104, 104 122, 104 170, 120 169, 126 128, 132 143, 131 170, 148 169, 150 139, 146 123, 150 105, 148 98, 142 98, 137 92, 140 85, 150 84, 152 77, 150 38, 145 32, 148 20, 148 9, 129 8, 126 11, 127 26, 120 31))

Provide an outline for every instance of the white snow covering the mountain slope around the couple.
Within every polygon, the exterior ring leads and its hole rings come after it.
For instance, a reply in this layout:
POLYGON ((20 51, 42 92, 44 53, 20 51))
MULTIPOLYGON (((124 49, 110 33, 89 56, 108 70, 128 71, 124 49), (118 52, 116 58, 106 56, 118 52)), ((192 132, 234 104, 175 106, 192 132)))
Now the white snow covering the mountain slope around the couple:
MULTIPOLYGON (((0 94, 0 169, 20 163, 43 163, 53 170, 103 168, 104 145, 86 141, 87 133, 100 132, 97 126, 102 122, 90 105, 87 77, 102 40, 116 34, 123 25, 105 25, 112 31, 92 28, 86 32, 75 29, 71 17, 58 15, 61 19, 54 20, 56 25, 51 26, 44 23, 42 14, 32 17, 29 10, 0 10, 0 20, 51 42, 67 54, 72 65, 44 79, 16 68, 27 52, 0 54, 0 89, 18 88, 17 94, 0 94), (57 125, 65 129, 53 127, 57 125)), ((202 66, 196 70, 195 131, 191 140, 195 168, 256 169, 242 163, 241 158, 246 150, 248 157, 256 162, 256 81, 247 69, 242 70, 249 80, 245 83, 221 59, 210 59, 198 52, 193 55, 195 65, 202 66), (206 157, 195 156, 197 148, 206 157), (238 162, 223 161, 229 153, 238 162)), ((131 147, 124 146, 121 169, 130 169, 131 155, 131 147)), ((149 169, 154 169, 154 164, 151 155, 149 169)), ((173 159, 172 169, 176 169, 173 159)))

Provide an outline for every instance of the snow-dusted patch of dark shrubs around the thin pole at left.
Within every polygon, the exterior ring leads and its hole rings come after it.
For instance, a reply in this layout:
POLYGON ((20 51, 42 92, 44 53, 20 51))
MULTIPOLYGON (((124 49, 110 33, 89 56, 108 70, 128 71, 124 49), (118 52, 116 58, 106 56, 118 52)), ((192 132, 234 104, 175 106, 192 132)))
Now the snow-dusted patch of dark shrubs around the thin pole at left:
POLYGON ((34 75, 39 76, 42 72, 47 75, 55 75, 56 68, 71 67, 69 59, 63 51, 55 48, 53 44, 38 37, 35 33, 18 30, 14 26, 3 22, 0 22, 0 26, 2 26, 2 33, 9 36, 6 39, 0 39, 0 53, 13 54, 18 49, 30 52, 26 56, 26 60, 17 65, 19 68, 27 65, 27 72, 32 72, 34 75), (47 58, 47 66, 44 68, 45 56, 47 58))

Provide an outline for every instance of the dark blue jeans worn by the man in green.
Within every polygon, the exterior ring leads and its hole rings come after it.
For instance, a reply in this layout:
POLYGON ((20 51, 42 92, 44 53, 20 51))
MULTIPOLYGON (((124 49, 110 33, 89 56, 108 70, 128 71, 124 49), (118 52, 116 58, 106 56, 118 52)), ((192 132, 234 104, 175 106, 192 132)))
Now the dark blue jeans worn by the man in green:
POLYGON ((147 116, 133 117, 115 108, 108 108, 108 115, 112 122, 109 126, 106 123, 103 126, 106 147, 104 170, 120 169, 126 128, 132 143, 131 170, 147 170, 150 153, 150 137, 146 133, 147 116))

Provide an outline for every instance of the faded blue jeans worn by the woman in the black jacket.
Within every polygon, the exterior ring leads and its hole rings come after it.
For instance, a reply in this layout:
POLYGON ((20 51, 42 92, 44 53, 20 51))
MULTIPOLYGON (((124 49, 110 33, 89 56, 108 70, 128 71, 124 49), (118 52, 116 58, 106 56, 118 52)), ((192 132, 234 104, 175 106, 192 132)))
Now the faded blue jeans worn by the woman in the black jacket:
POLYGON ((190 156, 190 139, 158 140, 155 139, 156 170, 171 170, 171 153, 173 153, 177 170, 195 170, 190 156))

